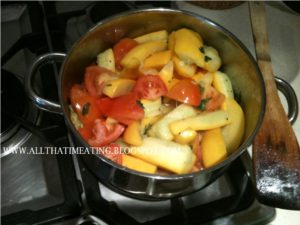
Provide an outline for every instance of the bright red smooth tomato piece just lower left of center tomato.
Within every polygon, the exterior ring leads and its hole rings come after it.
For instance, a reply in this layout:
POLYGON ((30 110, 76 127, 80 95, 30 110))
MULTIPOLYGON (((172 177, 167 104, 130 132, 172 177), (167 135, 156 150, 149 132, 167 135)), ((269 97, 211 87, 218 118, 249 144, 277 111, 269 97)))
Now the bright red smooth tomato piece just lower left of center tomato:
POLYGON ((144 110, 138 103, 138 97, 130 92, 117 98, 101 98, 97 100, 99 110, 120 123, 129 125, 144 117, 144 110))

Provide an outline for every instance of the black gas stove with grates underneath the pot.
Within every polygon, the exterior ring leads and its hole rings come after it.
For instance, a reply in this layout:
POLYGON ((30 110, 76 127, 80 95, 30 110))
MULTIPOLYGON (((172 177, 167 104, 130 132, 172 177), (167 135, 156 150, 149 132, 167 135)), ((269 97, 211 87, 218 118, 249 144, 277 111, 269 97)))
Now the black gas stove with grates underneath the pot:
MULTIPOLYGON (((267 224, 274 219, 275 209, 255 199, 247 152, 206 188, 164 201, 142 201, 112 191, 97 180, 79 155, 44 154, 49 147, 74 144, 63 117, 37 110, 24 97, 23 79, 30 64, 42 53, 68 51, 101 19, 149 7, 192 7, 199 13, 198 7, 184 2, 2 2, 3 224, 225 225, 267 224), (14 102, 22 104, 15 109, 14 102), (12 147, 25 150, 9 152, 12 147), (32 148, 38 148, 40 154, 32 154, 32 148)), ((238 7, 244 10, 246 6, 238 7)), ((214 13, 204 14, 209 15, 214 13)), ((244 35, 242 41, 244 38, 249 39, 244 35)), ((245 44, 252 52, 253 42, 248 39, 245 44)), ((42 76, 36 77, 35 88, 46 98, 57 99, 55 67, 59 66, 46 65, 40 71, 42 76)))

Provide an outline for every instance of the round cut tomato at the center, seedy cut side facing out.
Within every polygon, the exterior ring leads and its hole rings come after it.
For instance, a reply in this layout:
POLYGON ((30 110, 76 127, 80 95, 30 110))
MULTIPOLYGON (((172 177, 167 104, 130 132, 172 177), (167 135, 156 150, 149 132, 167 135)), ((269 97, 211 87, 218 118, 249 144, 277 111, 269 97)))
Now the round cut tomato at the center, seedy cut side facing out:
POLYGON ((133 91, 140 98, 154 100, 166 95, 168 89, 162 79, 157 75, 145 75, 138 78, 133 91))

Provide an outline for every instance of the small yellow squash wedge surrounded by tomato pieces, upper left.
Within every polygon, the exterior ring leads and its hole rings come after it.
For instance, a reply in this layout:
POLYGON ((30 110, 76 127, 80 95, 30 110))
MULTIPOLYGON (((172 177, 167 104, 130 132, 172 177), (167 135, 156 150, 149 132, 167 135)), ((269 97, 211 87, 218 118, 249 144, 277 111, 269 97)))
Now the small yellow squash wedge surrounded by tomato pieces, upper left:
POLYGON ((103 93, 111 98, 125 95, 132 90, 135 82, 126 78, 107 81, 103 85, 103 93))

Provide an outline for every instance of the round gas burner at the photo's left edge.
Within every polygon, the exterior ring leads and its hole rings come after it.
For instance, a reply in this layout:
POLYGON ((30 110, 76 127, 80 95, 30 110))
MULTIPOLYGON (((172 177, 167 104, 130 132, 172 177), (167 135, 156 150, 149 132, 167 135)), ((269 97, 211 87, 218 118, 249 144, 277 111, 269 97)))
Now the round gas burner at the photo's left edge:
POLYGON ((11 72, 1 69, 1 157, 22 145, 31 133, 18 119, 38 122, 37 109, 27 100, 22 82, 11 72), (5 84, 5 85, 3 85, 5 84))

